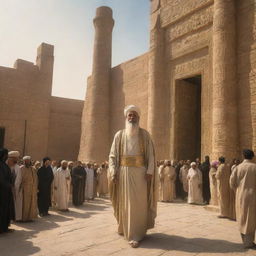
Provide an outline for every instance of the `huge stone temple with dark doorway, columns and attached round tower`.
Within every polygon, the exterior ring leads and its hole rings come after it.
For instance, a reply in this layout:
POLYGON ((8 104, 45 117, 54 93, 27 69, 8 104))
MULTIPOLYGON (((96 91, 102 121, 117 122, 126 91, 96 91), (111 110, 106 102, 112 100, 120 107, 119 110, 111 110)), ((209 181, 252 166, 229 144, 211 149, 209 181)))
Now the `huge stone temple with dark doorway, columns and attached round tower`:
POLYGON ((255 1, 152 0, 150 16, 148 53, 112 68, 112 11, 97 9, 79 158, 107 159, 127 104, 158 159, 256 150, 255 1))

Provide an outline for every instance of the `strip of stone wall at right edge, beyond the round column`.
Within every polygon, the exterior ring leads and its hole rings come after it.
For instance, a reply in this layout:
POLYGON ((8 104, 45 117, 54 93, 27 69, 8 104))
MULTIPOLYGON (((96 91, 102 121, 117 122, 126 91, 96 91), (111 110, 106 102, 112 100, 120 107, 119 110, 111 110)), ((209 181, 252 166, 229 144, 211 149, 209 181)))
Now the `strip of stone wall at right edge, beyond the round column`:
POLYGON ((240 148, 256 150, 256 3, 237 1, 237 81, 240 148))

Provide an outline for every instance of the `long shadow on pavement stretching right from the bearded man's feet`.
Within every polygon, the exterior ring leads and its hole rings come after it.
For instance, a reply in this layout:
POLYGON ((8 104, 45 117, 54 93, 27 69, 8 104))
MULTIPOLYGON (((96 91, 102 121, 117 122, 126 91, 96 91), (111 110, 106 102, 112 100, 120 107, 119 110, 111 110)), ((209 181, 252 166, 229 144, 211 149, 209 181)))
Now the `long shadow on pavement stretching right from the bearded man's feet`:
POLYGON ((186 238, 162 233, 147 235, 140 247, 191 253, 232 253, 245 251, 242 244, 225 240, 186 238))

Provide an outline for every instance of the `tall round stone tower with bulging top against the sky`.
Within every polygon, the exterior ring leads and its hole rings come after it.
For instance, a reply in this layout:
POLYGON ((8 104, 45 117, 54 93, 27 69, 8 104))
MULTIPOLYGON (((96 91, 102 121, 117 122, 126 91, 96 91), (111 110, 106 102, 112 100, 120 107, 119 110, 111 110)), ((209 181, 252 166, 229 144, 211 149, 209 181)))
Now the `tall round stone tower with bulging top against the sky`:
POLYGON ((102 162, 110 150, 109 87, 112 58, 112 10, 102 6, 96 10, 92 76, 88 80, 82 115, 82 131, 78 159, 102 162), (89 100, 88 100, 89 99, 89 100))

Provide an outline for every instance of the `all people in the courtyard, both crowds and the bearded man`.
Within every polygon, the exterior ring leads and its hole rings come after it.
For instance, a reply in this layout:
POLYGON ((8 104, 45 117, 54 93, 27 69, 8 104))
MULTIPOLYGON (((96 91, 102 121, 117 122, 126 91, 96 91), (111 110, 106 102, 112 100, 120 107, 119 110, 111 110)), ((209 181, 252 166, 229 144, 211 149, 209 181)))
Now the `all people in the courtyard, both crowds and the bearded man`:
POLYGON ((210 163, 206 156, 203 163, 197 158, 156 164, 150 134, 139 127, 139 108, 127 106, 124 116, 125 129, 114 137, 109 163, 57 162, 49 157, 40 163, 30 156, 20 161, 18 151, 0 149, 0 233, 12 231, 11 221, 49 215, 51 206, 68 211, 70 197, 79 206, 109 191, 118 234, 133 248, 154 227, 159 197, 163 202, 180 198, 219 206, 220 218, 237 220, 244 247, 256 249, 254 152, 243 150, 242 163, 226 163, 224 157, 210 163))

